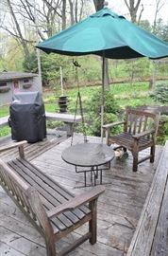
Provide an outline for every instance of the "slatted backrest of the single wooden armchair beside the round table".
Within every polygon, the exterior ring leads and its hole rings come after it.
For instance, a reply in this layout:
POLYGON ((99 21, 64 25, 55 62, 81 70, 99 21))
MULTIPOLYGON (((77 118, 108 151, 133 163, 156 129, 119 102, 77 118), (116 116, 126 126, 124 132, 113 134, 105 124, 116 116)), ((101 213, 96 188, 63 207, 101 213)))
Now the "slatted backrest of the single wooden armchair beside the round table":
POLYGON ((159 112, 147 112, 139 109, 127 108, 125 132, 135 135, 154 129, 156 135, 158 132, 159 120, 159 112))

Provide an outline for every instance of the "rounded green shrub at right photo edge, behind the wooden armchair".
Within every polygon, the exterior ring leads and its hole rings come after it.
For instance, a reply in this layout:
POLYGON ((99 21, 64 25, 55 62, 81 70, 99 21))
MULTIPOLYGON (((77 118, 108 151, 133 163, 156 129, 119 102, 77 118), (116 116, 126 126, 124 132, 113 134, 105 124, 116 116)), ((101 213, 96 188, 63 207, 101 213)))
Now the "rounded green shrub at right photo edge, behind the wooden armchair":
POLYGON ((160 83, 158 84, 153 92, 150 94, 150 97, 154 99, 154 101, 160 101, 161 103, 168 102, 168 84, 160 83))

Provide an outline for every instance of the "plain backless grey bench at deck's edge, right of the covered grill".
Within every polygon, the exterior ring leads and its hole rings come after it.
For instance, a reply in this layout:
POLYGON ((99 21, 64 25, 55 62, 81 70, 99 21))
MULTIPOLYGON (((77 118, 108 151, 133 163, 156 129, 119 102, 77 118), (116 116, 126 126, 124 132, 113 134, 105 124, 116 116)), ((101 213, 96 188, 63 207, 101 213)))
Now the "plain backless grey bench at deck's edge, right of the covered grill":
POLYGON ((67 137, 73 136, 73 125, 75 122, 80 122, 82 120, 81 116, 76 116, 73 114, 66 113, 45 113, 46 119, 49 120, 59 120, 63 121, 67 127, 67 137))

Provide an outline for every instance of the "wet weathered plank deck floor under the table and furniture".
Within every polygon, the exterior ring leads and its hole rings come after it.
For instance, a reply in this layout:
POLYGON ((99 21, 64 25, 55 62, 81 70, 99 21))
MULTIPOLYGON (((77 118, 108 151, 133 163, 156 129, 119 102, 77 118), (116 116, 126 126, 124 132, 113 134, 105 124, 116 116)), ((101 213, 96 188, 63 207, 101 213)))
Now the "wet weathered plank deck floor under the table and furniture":
MULTIPOLYGON (((83 137, 76 135, 74 144, 81 141, 83 137)), ((100 138, 89 137, 89 141, 98 142, 100 138)), ((45 174, 78 194, 91 190, 91 187, 83 188, 83 174, 76 174, 75 167, 61 159, 62 151, 70 146, 70 143, 71 137, 68 139, 64 136, 48 137, 45 141, 29 144, 25 148, 25 156, 45 174)), ((94 246, 86 242, 69 255, 126 255, 160 159, 161 150, 161 147, 157 147, 154 164, 150 164, 149 161, 143 162, 139 165, 137 173, 132 173, 130 154, 126 160, 115 158, 111 161, 110 170, 103 173, 106 192, 98 201, 98 241, 94 246)), ((142 154, 145 155, 146 151, 142 154)), ((8 159, 15 155, 16 152, 11 151, 8 154, 1 154, 0 157, 8 159)), ((74 237, 80 236, 82 231, 77 229, 74 234, 64 239, 59 247, 71 243, 74 237)), ((25 219, 6 192, 0 188, 0 256, 5 255, 45 256, 46 251, 41 235, 25 219)))

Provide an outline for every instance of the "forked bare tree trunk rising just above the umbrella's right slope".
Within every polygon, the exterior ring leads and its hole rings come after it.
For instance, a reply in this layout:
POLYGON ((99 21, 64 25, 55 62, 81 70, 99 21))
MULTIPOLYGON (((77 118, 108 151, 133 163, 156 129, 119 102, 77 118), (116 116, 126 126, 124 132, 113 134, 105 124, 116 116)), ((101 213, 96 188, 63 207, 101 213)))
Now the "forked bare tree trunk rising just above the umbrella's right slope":
POLYGON ((137 19, 137 13, 138 13, 138 9, 140 8, 141 0, 137 0, 137 1, 125 0, 125 4, 126 4, 126 8, 129 11, 131 22, 136 23, 137 20, 140 22, 140 18, 143 13, 143 6, 138 19, 137 19))

